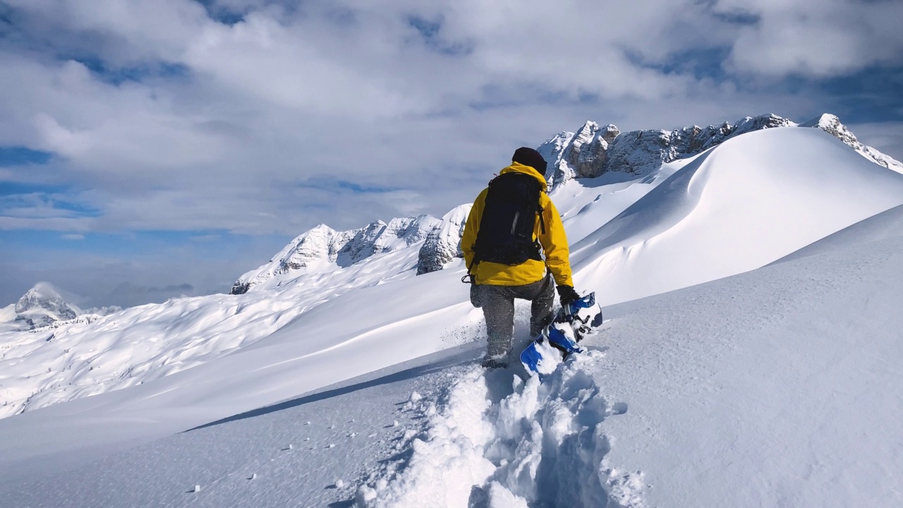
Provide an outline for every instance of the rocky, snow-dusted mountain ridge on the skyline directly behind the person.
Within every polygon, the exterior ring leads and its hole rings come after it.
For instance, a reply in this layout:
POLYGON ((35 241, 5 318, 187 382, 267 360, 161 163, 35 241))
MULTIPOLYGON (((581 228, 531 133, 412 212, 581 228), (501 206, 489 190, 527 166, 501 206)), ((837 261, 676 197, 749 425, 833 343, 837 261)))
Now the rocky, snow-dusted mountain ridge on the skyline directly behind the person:
MULTIPOLYGON (((863 145, 839 118, 828 113, 803 124, 767 114, 740 118, 733 124, 694 125, 671 131, 620 132, 614 125, 600 126, 587 121, 576 132, 560 132, 536 149, 548 164, 545 180, 551 192, 575 178, 596 178, 606 173, 641 177, 663 164, 701 154, 733 137, 775 127, 821 128, 871 162, 903 173, 903 163, 863 145)), ((238 278, 231 294, 247 293, 272 278, 292 278, 304 271, 347 267, 374 254, 419 241, 424 243, 418 254, 417 275, 440 270, 462 257, 461 233, 469 212, 470 203, 452 209, 442 220, 421 215, 392 219, 387 224, 376 221, 367 227, 347 231, 332 230, 320 224, 292 240, 269 263, 238 278), (403 241, 399 244, 398 240, 403 241)))

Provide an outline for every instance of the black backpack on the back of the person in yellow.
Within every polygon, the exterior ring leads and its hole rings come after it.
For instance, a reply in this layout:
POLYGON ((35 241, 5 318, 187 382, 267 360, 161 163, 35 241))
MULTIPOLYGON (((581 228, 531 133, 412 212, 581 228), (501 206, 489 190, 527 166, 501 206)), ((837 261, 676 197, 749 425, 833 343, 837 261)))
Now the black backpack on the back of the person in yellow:
POLYGON ((470 273, 480 261, 513 266, 527 259, 543 260, 539 242, 533 240, 537 214, 545 234, 543 208, 539 206, 543 187, 534 176, 523 173, 501 174, 489 182, 470 273))

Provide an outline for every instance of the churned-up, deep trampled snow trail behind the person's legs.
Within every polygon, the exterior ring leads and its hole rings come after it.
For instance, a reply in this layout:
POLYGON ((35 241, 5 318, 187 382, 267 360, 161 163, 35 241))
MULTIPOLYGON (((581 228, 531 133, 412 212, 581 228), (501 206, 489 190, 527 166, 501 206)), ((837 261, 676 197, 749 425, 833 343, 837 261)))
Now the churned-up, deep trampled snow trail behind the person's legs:
POLYGON ((591 372, 604 354, 566 362, 544 382, 473 367, 450 384, 400 472, 358 488, 358 506, 612 506, 639 508, 641 472, 606 460, 599 424, 623 414, 591 372))

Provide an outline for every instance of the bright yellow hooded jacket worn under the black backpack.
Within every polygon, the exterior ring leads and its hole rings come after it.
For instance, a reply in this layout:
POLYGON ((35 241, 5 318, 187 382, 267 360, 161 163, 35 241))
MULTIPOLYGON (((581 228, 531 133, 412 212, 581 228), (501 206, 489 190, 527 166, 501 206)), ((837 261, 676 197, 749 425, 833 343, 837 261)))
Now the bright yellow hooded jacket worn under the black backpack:
MULTIPOLYGON (((543 188, 545 189, 545 178, 528 165, 511 163, 498 174, 506 173, 523 173, 535 176, 537 180, 543 183, 543 188)), ((464 252, 464 261, 468 267, 473 261, 473 244, 477 241, 479 221, 483 216, 483 208, 486 205, 486 193, 488 192, 488 188, 483 189, 483 192, 477 196, 477 201, 473 203, 473 208, 470 209, 467 224, 464 225, 464 234, 461 236, 461 250, 464 252)), ((539 206, 543 208, 545 234, 540 229, 539 217, 537 216, 533 227, 533 238, 535 240, 538 239, 539 244, 543 248, 545 263, 535 259, 527 259, 519 265, 508 266, 490 263, 489 261, 480 261, 474 274, 474 280, 477 284, 487 284, 489 286, 524 286, 532 284, 545 277, 545 267, 547 266, 552 271, 552 277, 554 277, 557 285, 573 287, 570 251, 567 245, 567 236, 564 234, 561 215, 558 214, 558 210, 555 209, 555 205, 545 192, 539 194, 539 206)))

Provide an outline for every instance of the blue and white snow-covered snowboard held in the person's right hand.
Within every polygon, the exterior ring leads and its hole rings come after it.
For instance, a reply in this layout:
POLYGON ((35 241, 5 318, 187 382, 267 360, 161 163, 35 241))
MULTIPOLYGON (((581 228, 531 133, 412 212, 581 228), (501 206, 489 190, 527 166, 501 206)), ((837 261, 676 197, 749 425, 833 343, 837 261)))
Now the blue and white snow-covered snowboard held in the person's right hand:
POLYGON ((551 374, 559 363, 574 353, 583 353, 578 345, 583 336, 602 324, 602 309, 593 314, 596 294, 582 296, 562 306, 551 324, 546 326, 530 345, 520 353, 520 362, 527 372, 540 378, 551 374))

